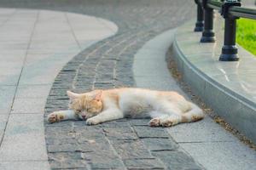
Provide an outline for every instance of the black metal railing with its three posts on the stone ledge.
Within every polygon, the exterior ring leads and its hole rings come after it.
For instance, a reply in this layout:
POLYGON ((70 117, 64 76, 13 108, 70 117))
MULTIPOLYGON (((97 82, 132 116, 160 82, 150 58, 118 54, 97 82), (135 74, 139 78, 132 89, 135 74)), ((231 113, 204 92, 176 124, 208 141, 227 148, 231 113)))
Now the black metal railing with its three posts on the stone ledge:
POLYGON ((213 9, 224 18, 224 46, 221 61, 237 61, 236 20, 241 18, 256 20, 256 9, 242 8, 240 0, 195 0, 197 4, 197 21, 194 31, 202 31, 200 42, 215 42, 213 31, 213 9))

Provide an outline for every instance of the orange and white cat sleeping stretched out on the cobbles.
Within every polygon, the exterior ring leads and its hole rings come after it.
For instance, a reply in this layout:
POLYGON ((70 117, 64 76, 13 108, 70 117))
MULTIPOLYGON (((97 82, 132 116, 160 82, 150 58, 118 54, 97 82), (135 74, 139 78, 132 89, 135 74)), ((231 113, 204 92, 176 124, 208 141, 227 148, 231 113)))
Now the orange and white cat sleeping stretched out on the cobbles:
POLYGON ((82 119, 87 125, 113 121, 124 117, 152 118, 151 127, 171 127, 180 122, 195 122, 204 118, 201 109, 176 92, 142 88, 94 90, 85 94, 67 91, 72 111, 55 111, 48 122, 82 119))

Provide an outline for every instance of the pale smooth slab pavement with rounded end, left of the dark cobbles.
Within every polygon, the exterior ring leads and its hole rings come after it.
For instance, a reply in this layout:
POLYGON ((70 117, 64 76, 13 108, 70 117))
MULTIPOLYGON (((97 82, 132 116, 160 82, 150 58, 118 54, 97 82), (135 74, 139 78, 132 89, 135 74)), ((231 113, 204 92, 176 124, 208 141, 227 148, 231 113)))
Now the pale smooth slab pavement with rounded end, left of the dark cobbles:
POLYGON ((81 14, 0 11, 0 169, 49 169, 43 119, 52 83, 68 60, 117 27, 81 14))

